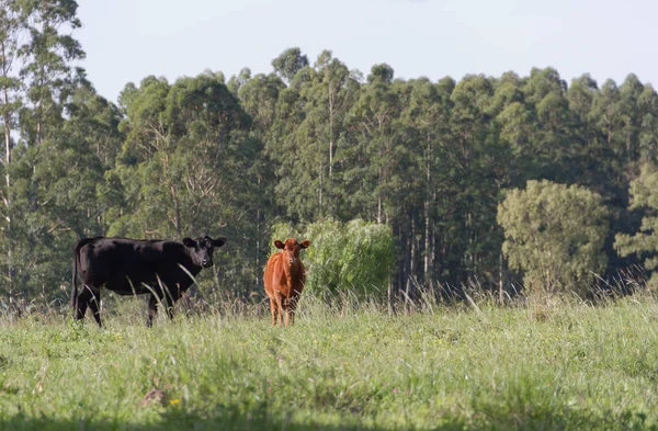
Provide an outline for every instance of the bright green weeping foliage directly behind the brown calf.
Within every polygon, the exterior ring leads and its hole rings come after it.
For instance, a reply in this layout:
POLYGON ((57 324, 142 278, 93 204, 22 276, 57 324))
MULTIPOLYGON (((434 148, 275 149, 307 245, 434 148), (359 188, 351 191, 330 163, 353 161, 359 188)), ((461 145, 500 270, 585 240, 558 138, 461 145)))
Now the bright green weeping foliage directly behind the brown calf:
POLYGON ((277 224, 272 230, 271 243, 286 238, 310 240, 303 261, 308 272, 306 288, 313 294, 351 292, 372 298, 385 294, 393 264, 388 226, 360 219, 345 224, 325 220, 309 224, 303 232, 286 224, 277 224))

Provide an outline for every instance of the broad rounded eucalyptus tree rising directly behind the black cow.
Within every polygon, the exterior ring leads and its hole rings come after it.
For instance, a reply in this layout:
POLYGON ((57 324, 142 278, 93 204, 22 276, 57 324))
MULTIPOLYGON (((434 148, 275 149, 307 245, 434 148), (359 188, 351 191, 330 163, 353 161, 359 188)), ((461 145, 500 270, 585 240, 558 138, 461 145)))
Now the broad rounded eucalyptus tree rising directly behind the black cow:
POLYGON ((250 120, 235 95, 208 75, 173 86, 148 77, 128 98, 126 112, 117 170, 135 211, 111 230, 181 236, 205 225, 220 197, 234 196, 229 183, 248 174, 239 172, 245 158, 253 159, 241 154, 251 150, 245 133, 250 120))

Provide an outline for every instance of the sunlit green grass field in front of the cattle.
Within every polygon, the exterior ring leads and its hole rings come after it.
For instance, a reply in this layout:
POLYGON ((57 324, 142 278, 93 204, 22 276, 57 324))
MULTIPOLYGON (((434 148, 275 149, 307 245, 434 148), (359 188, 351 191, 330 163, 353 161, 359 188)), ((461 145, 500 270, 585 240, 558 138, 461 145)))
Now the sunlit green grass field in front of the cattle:
MULTIPOLYGON (((0 430, 644 430, 658 305, 0 318, 0 430)), ((260 309, 262 311, 262 309, 260 309)))

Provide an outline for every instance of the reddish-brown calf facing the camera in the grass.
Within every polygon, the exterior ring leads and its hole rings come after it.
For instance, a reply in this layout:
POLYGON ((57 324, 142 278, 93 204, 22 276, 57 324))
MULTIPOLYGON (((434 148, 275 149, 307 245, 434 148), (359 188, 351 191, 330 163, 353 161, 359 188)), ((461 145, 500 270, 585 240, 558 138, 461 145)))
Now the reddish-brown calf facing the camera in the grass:
POLYGON ((283 315, 285 315, 284 325, 287 326, 288 320, 291 325, 295 322, 295 307, 306 282, 299 250, 310 246, 310 241, 306 239, 299 242, 288 238, 285 243, 280 240, 274 241, 274 246, 281 251, 272 254, 268 260, 263 284, 265 294, 270 298, 272 326, 284 324, 283 315))

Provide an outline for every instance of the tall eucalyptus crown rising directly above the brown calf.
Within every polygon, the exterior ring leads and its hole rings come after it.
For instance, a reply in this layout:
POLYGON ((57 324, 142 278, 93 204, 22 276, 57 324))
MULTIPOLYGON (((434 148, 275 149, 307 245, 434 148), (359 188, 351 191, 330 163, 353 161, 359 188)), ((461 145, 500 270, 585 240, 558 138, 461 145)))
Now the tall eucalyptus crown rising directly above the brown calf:
POLYGON ((348 68, 330 52, 322 52, 313 67, 299 69, 280 92, 266 147, 275 163, 276 196, 296 222, 340 214, 344 194, 333 178, 334 159, 358 89, 348 68))

